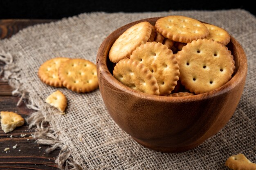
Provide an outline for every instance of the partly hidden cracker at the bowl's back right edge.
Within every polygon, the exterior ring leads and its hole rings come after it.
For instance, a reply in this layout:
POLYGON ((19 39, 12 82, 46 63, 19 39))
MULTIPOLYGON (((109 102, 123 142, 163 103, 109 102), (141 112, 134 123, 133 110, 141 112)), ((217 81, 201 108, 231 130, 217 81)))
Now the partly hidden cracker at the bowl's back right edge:
POLYGON ((230 41, 230 35, 223 28, 212 24, 203 23, 209 30, 209 35, 206 37, 207 39, 213 39, 214 41, 219 41, 220 43, 226 46, 230 41))

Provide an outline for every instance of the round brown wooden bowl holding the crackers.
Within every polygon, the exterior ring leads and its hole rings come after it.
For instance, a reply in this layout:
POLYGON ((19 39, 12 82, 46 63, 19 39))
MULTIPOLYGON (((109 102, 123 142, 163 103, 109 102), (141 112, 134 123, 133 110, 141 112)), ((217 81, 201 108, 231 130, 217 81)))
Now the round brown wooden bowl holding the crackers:
POLYGON ((182 152, 215 135, 234 114, 247 75, 242 46, 231 37, 227 45, 236 69, 218 89, 185 97, 154 96, 135 91, 112 76, 108 52, 127 28, 142 21, 155 25, 159 17, 132 22, 111 33, 97 53, 99 89, 110 116, 139 144, 161 152, 182 152))

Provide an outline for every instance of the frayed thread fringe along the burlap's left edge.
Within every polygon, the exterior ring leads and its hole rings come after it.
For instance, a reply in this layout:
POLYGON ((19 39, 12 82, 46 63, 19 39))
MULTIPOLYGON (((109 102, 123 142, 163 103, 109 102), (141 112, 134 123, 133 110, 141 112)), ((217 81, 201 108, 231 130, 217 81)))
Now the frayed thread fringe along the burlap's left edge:
POLYGON ((33 138, 36 139, 36 143, 51 146, 45 150, 47 153, 52 152, 56 148, 61 148, 55 160, 55 163, 58 164, 61 170, 83 170, 79 163, 73 159, 71 150, 69 150, 67 145, 60 142, 50 122, 43 116, 43 113, 34 103, 33 98, 29 96, 29 93, 22 86, 20 69, 17 69, 13 63, 13 56, 8 52, 0 50, 0 61, 5 63, 5 65, 0 65, 0 76, 3 76, 2 80, 7 81, 11 87, 15 88, 12 92, 13 96, 20 96, 17 106, 20 106, 22 101, 27 99, 28 103, 25 102, 27 108, 36 110, 36 112, 26 118, 29 129, 35 129, 33 138))

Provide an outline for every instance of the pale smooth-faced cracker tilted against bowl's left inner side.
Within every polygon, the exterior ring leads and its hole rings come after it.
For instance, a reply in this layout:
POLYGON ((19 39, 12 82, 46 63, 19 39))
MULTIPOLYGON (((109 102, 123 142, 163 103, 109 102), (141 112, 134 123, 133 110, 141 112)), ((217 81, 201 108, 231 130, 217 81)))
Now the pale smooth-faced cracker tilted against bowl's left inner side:
POLYGON ((149 22, 139 22, 128 28, 114 42, 109 51, 109 59, 117 63, 121 59, 126 59, 132 51, 141 44, 145 44, 150 38, 152 25, 149 22))

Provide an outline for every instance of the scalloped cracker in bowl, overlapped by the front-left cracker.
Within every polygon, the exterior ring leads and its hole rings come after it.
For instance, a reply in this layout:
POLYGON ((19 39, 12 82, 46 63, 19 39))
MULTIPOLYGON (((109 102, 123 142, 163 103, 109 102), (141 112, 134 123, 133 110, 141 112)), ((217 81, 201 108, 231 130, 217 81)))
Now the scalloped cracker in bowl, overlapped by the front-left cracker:
POLYGON ((142 44, 130 55, 130 59, 146 65, 157 79, 159 93, 171 93, 179 79, 179 65, 175 55, 167 46, 157 42, 142 44))

